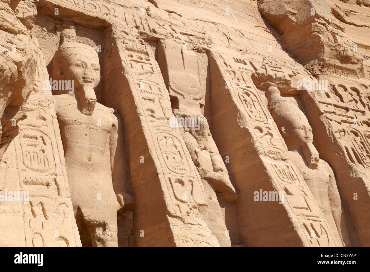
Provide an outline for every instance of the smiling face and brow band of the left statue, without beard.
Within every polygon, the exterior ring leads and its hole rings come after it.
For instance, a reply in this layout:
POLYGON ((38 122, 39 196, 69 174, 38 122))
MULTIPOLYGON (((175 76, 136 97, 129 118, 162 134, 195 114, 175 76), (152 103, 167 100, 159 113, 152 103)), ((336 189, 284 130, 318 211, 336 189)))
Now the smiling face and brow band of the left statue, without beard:
POLYGON ((70 47, 63 50, 61 68, 65 79, 74 81, 75 88, 90 86, 95 89, 99 84, 99 58, 92 48, 89 49, 70 47))

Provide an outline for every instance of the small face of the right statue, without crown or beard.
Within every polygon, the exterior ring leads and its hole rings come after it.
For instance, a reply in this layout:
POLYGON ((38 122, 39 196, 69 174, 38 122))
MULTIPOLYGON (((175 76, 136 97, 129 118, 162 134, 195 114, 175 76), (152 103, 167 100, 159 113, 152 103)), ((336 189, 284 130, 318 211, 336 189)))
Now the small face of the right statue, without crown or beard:
POLYGON ((282 128, 282 136, 287 142, 293 144, 302 145, 304 143, 313 142, 312 128, 308 122, 304 122, 302 119, 300 122, 289 122, 282 128))

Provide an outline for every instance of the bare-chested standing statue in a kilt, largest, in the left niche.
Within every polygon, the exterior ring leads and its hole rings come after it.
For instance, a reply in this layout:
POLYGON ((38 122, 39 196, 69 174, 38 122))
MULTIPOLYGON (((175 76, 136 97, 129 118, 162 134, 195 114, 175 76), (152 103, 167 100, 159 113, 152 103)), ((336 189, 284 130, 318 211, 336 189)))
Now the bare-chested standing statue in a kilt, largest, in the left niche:
POLYGON ((93 246, 117 246, 117 211, 130 198, 120 117, 96 102, 98 55, 74 38, 71 28, 61 33, 52 80, 74 83, 72 91, 54 91, 54 100, 75 218, 80 232, 81 221, 86 225, 93 246))

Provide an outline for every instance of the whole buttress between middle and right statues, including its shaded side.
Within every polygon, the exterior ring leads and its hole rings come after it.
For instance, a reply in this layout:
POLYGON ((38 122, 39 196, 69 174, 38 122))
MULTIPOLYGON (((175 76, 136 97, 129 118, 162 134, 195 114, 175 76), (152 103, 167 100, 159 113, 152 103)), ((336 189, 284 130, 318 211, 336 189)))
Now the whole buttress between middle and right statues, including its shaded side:
POLYGON ((242 57, 214 52, 209 57, 212 135, 220 154, 230 159, 229 171, 239 192, 241 240, 249 245, 336 245, 260 100, 250 78, 255 71, 253 64, 242 57), (259 202, 253 199, 254 192, 259 191, 278 191, 282 197, 279 202, 259 202))

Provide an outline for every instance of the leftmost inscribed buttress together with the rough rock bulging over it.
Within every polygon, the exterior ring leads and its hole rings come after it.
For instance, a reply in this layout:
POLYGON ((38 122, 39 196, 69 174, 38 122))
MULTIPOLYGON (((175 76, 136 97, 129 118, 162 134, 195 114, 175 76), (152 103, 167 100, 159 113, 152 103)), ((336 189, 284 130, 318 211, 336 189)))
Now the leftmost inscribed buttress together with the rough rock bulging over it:
POLYGON ((1 31, 7 53, 0 54, 6 107, 1 118, 0 244, 81 246, 43 53, 9 7, 7 11, 1 17, 11 24, 1 31))

